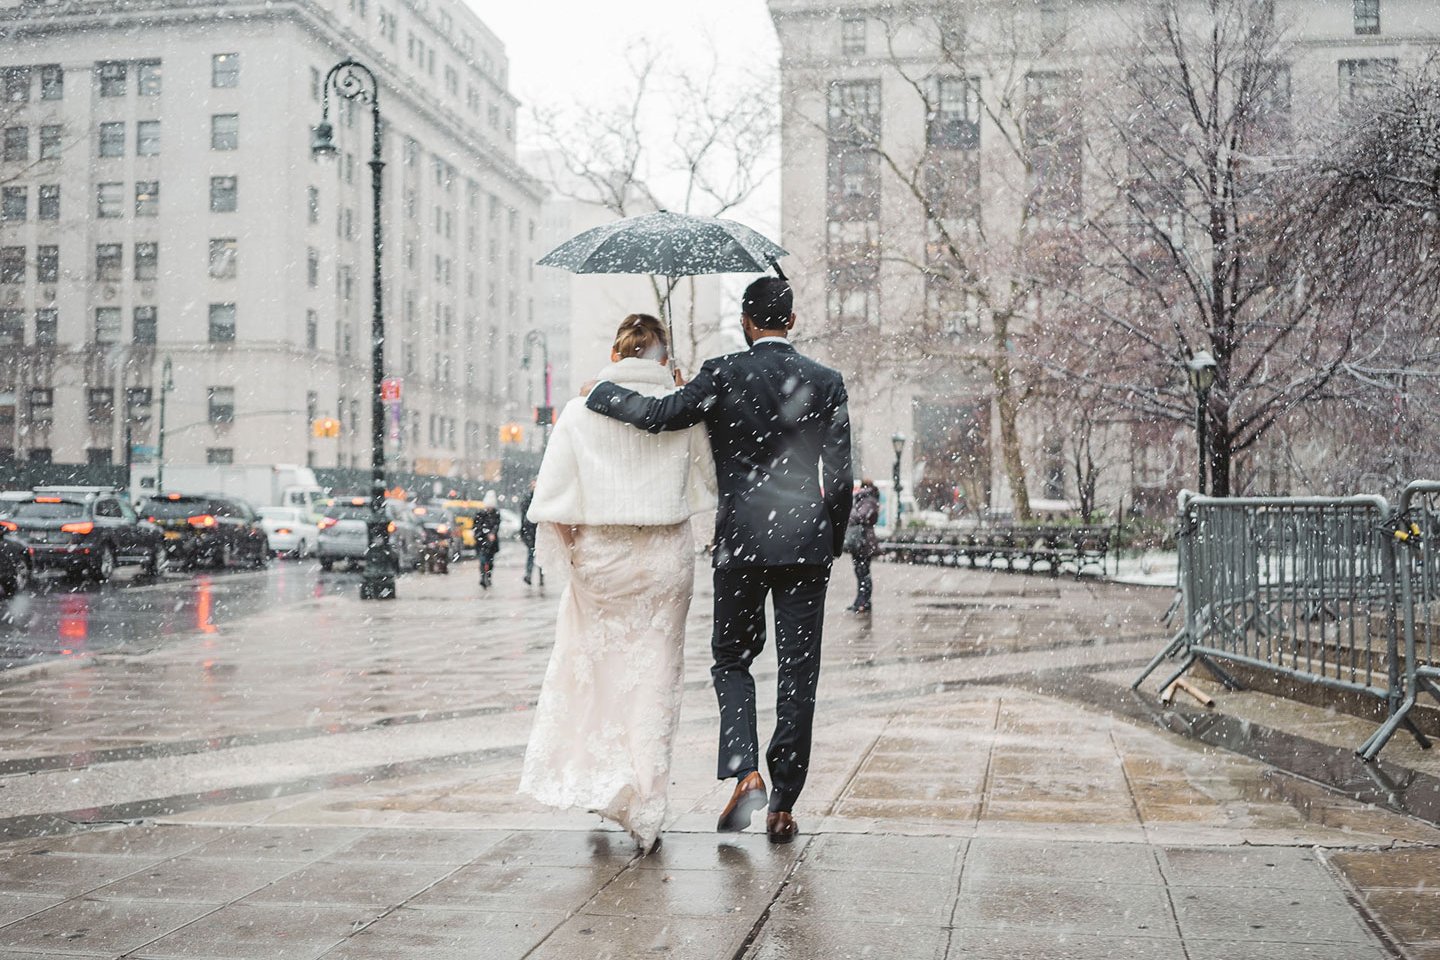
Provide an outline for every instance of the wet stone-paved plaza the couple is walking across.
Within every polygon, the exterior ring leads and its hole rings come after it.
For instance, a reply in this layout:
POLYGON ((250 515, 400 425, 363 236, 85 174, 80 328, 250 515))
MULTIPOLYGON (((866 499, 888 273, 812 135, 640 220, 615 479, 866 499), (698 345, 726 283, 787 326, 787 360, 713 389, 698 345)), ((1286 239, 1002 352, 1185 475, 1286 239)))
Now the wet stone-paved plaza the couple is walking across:
POLYGON ((713 832, 701 576, 636 859, 516 794, 557 596, 516 560, 374 604, 271 571, 0 674, 0 960, 1440 957, 1440 829, 1092 702, 1168 592, 877 566, 863 619, 838 570, 802 836, 772 846, 713 832))

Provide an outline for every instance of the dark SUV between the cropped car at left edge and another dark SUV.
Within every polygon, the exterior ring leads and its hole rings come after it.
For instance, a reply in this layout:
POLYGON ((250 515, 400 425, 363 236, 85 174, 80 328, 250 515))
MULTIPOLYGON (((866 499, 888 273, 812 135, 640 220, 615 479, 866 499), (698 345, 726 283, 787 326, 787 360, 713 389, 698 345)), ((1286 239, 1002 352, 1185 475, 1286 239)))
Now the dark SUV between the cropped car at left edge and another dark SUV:
POLYGON ((36 570, 109 580, 121 564, 140 564, 151 576, 166 569, 160 527, 141 520, 117 491, 40 489, 10 508, 4 527, 30 545, 36 570))

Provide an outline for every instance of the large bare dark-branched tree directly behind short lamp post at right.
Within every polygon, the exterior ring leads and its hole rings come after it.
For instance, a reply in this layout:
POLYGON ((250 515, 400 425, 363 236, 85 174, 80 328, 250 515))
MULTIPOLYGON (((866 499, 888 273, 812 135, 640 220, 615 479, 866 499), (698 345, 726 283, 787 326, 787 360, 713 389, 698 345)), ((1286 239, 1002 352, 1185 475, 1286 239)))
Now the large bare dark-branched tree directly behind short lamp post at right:
POLYGON ((1238 486, 1237 458, 1375 356, 1369 331, 1404 296, 1400 278, 1362 269, 1372 250, 1306 242, 1283 56, 1272 0, 1155 4, 1092 141, 1119 190, 1087 217, 1080 282, 1064 291, 1061 335, 1107 360, 1079 376, 1142 417, 1192 419, 1184 363, 1214 357, 1217 495, 1238 486))

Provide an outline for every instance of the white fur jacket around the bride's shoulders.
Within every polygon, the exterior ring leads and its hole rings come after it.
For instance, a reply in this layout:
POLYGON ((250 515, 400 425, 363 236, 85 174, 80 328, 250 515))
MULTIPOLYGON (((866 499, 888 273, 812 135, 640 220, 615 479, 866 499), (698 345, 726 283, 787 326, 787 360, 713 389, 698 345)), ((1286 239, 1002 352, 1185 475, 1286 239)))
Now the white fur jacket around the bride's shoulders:
MULTIPOLYGON (((647 396, 675 390, 654 360, 626 357, 598 374, 647 396)), ((665 433, 600 416, 570 400, 540 462, 533 522, 662 527, 714 508, 716 468, 704 426, 665 433)))

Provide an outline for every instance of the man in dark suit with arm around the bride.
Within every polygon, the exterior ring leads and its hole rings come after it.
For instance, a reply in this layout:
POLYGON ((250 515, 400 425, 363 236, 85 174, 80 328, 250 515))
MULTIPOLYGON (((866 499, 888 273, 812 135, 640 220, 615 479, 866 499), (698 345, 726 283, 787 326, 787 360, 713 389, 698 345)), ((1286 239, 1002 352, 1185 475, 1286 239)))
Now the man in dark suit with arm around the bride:
POLYGON ((796 353, 793 296, 763 276, 744 291, 740 324, 750 348, 707 360, 681 390, 647 397, 599 383, 586 406, 652 433, 704 422, 720 502, 714 537, 714 635, 720 698, 719 779, 736 779, 716 829, 743 830, 769 807, 766 833, 789 843, 791 812, 809 770, 821 628, 831 561, 850 518, 850 413, 840 373, 796 353), (775 734, 760 777, 750 662, 765 649, 765 599, 775 602, 779 689, 775 734))

